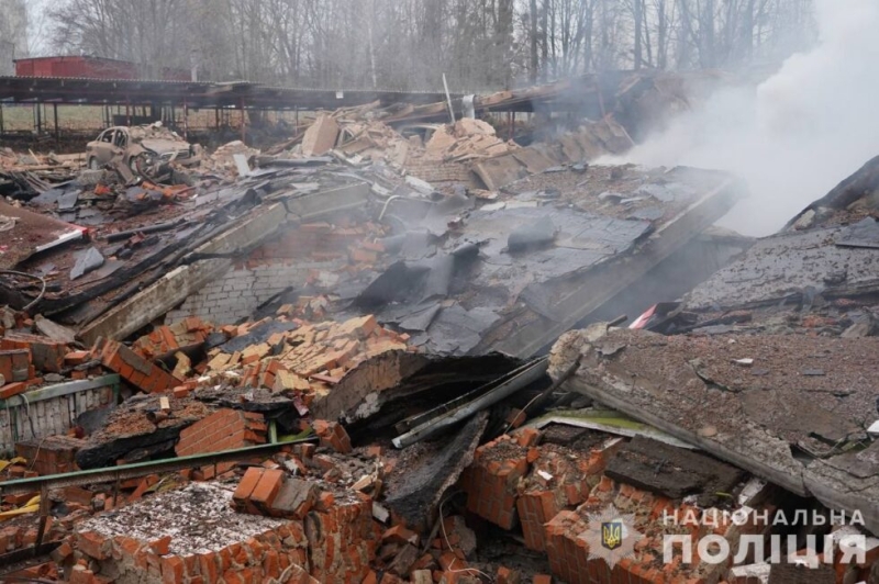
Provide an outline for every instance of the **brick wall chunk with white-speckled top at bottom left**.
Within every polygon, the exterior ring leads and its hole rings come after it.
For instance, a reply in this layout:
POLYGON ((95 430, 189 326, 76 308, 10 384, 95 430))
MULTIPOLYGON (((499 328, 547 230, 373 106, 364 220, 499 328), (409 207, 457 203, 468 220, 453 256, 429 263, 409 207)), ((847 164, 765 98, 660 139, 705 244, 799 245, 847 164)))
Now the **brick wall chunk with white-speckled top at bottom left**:
POLYGON ((225 486, 190 483, 84 521, 73 541, 91 572, 82 582, 252 583, 289 569, 285 582, 316 584, 368 574, 378 540, 368 496, 340 495, 303 520, 241 514, 231 502, 225 486))

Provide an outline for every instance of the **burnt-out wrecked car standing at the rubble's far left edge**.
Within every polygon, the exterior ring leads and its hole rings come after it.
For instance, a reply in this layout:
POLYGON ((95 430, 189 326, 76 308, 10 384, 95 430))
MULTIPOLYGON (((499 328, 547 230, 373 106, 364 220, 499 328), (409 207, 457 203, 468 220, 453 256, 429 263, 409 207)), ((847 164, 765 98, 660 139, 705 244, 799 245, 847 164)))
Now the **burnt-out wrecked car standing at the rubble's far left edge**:
POLYGON ((133 177, 162 180, 171 175, 173 164, 197 166, 201 161, 201 147, 189 144, 160 123, 114 126, 86 145, 86 160, 91 170, 112 167, 123 175, 130 171, 133 177))

